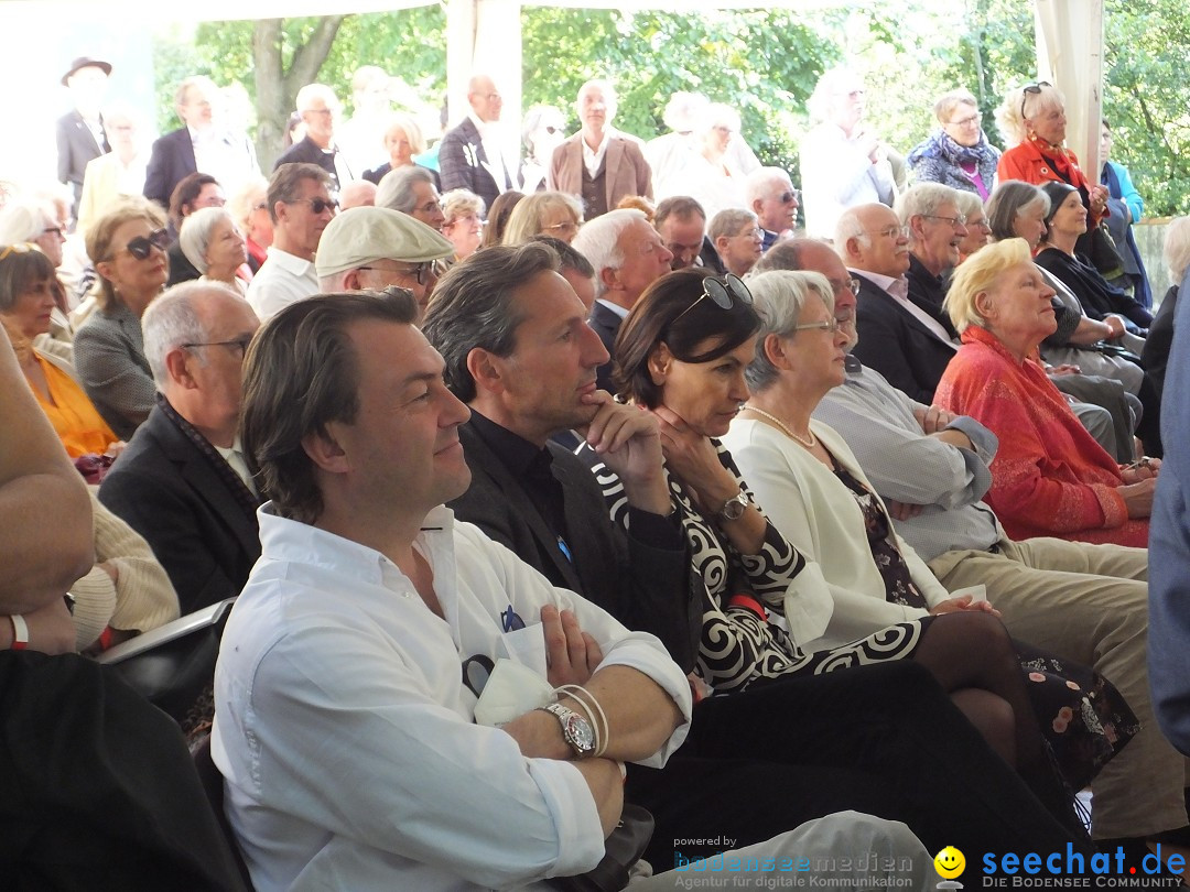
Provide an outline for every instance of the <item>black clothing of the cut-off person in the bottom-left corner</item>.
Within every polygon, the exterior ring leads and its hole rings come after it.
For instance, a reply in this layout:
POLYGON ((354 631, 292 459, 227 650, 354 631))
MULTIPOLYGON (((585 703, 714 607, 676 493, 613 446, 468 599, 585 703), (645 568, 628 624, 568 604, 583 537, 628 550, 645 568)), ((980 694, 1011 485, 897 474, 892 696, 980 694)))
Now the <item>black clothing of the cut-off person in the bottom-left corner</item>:
POLYGON ((82 657, 0 652, 0 885, 244 888, 181 731, 82 657))

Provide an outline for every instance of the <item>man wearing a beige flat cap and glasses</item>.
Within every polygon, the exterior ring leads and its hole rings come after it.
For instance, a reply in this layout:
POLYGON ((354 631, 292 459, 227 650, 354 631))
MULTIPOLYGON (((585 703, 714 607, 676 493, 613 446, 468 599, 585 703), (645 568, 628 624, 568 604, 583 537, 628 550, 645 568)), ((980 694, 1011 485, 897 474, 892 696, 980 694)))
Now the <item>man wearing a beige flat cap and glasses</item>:
POLYGON ((355 207, 336 216, 322 232, 314 268, 324 294, 400 285, 413 291, 418 319, 425 315, 438 276, 434 260, 455 247, 408 214, 386 207, 355 207))

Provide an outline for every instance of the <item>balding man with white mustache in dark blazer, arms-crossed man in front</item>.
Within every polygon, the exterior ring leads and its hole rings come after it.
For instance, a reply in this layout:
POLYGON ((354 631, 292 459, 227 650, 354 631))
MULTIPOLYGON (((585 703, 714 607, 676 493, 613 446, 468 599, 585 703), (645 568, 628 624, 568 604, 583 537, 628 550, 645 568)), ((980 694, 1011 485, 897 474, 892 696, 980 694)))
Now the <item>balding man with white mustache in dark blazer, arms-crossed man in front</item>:
POLYGON ((839 218, 835 247, 859 279, 852 352, 917 402, 934 401, 958 350, 946 329, 908 296, 909 239, 885 205, 860 205, 839 218))

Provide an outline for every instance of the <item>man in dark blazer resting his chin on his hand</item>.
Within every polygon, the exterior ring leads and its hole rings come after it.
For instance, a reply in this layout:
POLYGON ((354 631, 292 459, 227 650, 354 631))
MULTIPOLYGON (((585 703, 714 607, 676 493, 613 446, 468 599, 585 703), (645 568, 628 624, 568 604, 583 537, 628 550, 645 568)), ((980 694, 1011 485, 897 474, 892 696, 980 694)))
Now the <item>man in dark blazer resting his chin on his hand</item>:
POLYGON ((471 407, 459 428, 471 486, 450 507, 555 585, 657 635, 689 671, 702 602, 688 582, 656 425, 595 390, 607 353, 557 272, 556 255, 537 244, 488 251, 466 275, 452 275, 445 293, 436 290, 424 323, 446 362, 447 384, 471 407), (602 458, 632 505, 631 535, 612 523, 587 466, 550 442, 572 427, 606 439, 602 458))

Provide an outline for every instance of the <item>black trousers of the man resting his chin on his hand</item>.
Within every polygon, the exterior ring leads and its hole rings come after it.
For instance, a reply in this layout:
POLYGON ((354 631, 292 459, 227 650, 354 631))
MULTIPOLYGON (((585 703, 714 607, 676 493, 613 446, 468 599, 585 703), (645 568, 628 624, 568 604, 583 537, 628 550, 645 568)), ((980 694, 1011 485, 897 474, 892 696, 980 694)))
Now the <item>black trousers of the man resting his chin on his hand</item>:
POLYGON ((908 660, 703 701, 682 748, 662 769, 631 766, 625 793, 657 821, 657 871, 845 809, 904 822, 932 853, 1094 852, 908 660))

